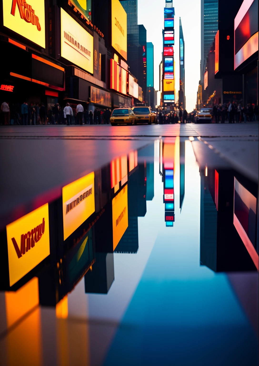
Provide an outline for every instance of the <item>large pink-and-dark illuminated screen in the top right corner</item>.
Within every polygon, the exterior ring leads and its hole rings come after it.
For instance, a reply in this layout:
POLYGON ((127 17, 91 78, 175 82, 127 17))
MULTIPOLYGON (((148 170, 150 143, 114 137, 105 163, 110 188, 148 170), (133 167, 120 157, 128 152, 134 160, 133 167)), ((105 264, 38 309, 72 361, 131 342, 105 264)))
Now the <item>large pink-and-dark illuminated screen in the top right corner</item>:
POLYGON ((258 52, 258 0, 243 1, 234 20, 234 70, 258 52))

